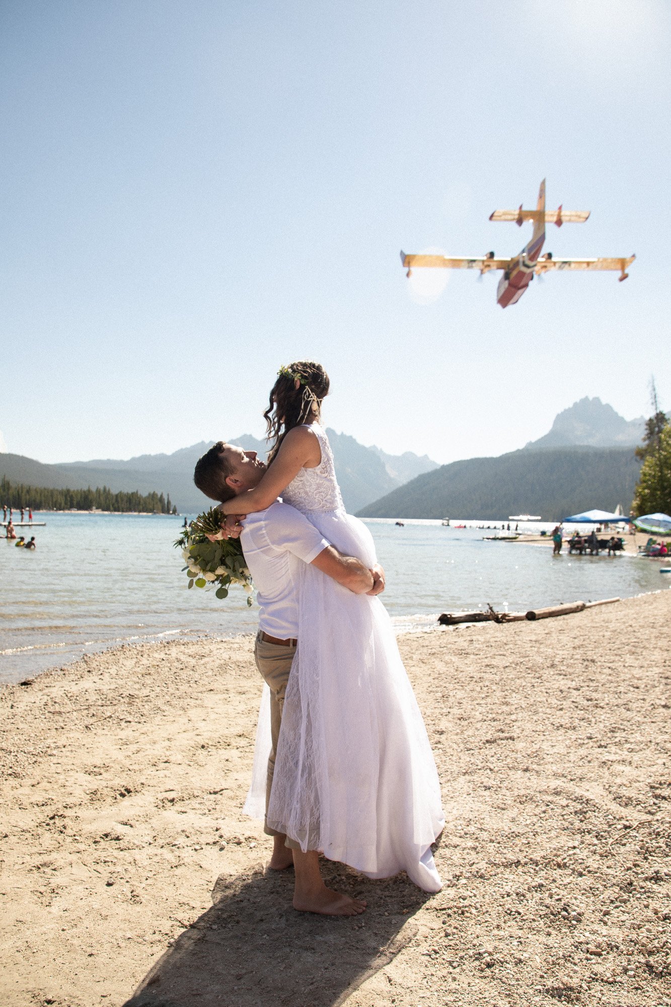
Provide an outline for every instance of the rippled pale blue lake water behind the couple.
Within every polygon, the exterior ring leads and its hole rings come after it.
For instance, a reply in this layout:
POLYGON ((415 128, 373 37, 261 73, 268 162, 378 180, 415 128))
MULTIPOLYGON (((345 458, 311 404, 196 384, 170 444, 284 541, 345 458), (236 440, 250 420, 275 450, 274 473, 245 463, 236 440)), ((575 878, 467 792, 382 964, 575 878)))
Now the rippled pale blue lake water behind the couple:
MULTIPOLYGON (((34 517, 46 521, 34 529, 34 552, 0 540, 0 682, 120 643, 255 631, 257 608, 247 607, 242 592, 222 602, 214 592, 186 590, 181 556, 172 548, 183 518, 34 517)), ((553 558, 546 546, 483 541, 491 533, 476 527, 367 524, 386 570, 384 602, 398 631, 434 629, 439 612, 488 602, 524 611, 668 587, 658 564, 634 556, 553 558)))

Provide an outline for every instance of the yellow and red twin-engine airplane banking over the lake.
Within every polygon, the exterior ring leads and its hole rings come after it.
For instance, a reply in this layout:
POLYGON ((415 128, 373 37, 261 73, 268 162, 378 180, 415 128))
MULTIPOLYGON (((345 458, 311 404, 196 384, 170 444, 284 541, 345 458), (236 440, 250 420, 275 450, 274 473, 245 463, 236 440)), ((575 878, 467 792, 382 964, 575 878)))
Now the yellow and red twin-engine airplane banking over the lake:
POLYGON ((534 278, 534 274, 542 275, 551 269, 609 269, 620 270, 620 281, 629 276, 627 270, 636 256, 616 259, 555 259, 551 252, 546 252, 541 258, 541 249, 545 243, 545 225, 555 224, 560 228, 563 224, 584 224, 589 217, 589 210, 545 209, 545 179, 538 190, 536 209, 495 209, 490 221, 511 221, 519 228, 525 221, 534 222, 531 241, 524 246, 519 255, 512 259, 497 259, 494 252, 489 252, 482 259, 465 257, 450 258, 441 255, 406 255, 401 252, 401 262, 407 269, 406 276, 412 275, 412 270, 418 267, 442 269, 479 269, 481 276, 492 270, 503 270, 504 275, 499 280, 497 302, 502 308, 509 304, 517 304, 520 297, 534 278))

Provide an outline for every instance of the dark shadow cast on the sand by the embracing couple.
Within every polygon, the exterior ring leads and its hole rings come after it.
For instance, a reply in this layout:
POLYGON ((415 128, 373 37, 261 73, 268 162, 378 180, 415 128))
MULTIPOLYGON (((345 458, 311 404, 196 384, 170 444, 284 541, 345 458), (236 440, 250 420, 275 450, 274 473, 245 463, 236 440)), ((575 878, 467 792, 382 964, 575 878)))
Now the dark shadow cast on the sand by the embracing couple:
POLYGON ((414 937, 429 897, 405 876, 370 881, 322 862, 329 886, 368 900, 363 916, 291 907, 293 871, 222 874, 213 906, 147 973, 124 1007, 337 1007, 414 937))

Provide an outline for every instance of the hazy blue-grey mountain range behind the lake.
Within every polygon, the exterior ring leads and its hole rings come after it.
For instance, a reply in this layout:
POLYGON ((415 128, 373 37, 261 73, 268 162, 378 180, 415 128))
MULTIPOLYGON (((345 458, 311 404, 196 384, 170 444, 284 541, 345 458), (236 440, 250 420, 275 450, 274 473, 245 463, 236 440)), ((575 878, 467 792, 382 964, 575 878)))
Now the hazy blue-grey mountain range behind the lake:
MULTIPOLYGON (((349 434, 327 433, 350 513, 484 520, 529 513, 555 521, 590 508, 614 510, 621 503, 629 509, 640 468, 633 447, 641 441, 644 423, 643 418, 625 420, 600 399, 584 398, 559 413, 547 434, 518 451, 440 466, 427 455, 388 454, 349 434)), ((212 443, 127 461, 98 458, 56 465, 0 454, 0 476, 54 488, 162 490, 181 513, 192 513, 208 503, 192 476, 196 460, 212 443)), ((266 451, 266 442, 250 434, 232 443, 261 455, 266 451)))

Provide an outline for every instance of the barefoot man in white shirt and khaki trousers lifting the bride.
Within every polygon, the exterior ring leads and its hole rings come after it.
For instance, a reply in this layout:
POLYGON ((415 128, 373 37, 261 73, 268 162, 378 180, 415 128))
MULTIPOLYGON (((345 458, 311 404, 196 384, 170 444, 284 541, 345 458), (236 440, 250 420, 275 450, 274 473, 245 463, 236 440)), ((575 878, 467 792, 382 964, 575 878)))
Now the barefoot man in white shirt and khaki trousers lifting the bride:
MULTIPOLYGON (((253 489, 265 469, 256 451, 245 451, 219 441, 196 462, 193 481, 207 496, 223 502, 253 489)), ((354 556, 344 556, 322 538, 304 515, 280 500, 245 518, 242 531, 240 522, 227 519, 217 538, 231 535, 240 535, 260 607, 254 657, 271 696, 272 750, 266 783, 267 810, 284 695, 297 644, 300 564, 311 563, 324 576, 331 577, 355 594, 384 591, 384 570, 380 566, 369 570, 354 556)), ((275 832, 267 823, 264 831, 273 836, 270 867, 283 870, 291 864, 294 866, 295 909, 338 916, 353 916, 364 911, 366 902, 326 888, 319 873, 316 850, 303 853, 298 843, 275 832)))

